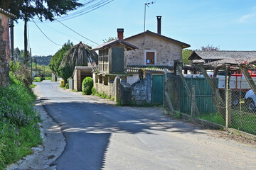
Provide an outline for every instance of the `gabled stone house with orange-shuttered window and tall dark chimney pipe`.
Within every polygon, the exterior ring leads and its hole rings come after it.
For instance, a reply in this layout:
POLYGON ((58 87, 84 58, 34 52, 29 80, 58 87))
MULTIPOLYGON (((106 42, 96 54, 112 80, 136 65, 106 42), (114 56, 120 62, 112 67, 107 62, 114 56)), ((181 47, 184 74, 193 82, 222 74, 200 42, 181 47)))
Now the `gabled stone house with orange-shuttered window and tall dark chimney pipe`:
POLYGON ((165 68, 171 72, 174 60, 182 60, 182 49, 190 47, 184 42, 161 35, 161 16, 158 16, 157 20, 157 33, 146 30, 124 39, 138 47, 136 50, 125 52, 126 72, 133 75, 127 78, 129 84, 138 81, 138 70, 142 68, 152 74, 164 74, 165 68))

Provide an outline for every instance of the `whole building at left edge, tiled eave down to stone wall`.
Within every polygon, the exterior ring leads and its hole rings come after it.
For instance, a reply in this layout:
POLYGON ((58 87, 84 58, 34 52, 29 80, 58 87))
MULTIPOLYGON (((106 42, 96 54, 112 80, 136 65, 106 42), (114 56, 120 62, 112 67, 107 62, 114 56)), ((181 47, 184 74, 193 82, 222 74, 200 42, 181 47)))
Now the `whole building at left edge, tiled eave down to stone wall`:
POLYGON ((9 18, 15 16, 0 8, 0 86, 9 85, 10 46, 9 46, 9 18))

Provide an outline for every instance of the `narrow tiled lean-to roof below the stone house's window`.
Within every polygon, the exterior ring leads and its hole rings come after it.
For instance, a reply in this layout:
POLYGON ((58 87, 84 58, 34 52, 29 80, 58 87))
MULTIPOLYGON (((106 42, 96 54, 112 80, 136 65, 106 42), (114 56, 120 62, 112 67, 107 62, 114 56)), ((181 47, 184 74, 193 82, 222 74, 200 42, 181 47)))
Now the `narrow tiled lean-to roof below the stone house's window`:
POLYGON ((145 66, 145 65, 127 65, 127 68, 124 72, 127 74, 138 73, 139 69, 145 69, 146 72, 164 74, 164 69, 167 69, 167 72, 172 72, 174 67, 172 66, 145 66))

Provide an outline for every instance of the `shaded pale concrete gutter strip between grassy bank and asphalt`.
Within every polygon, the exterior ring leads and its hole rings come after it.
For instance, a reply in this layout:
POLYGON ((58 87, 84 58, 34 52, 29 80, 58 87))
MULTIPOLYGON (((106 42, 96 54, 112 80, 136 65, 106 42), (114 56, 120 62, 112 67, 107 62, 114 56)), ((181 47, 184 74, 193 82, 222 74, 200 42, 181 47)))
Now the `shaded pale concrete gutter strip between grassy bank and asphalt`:
POLYGON ((56 166, 52 166, 51 164, 58 159, 65 150, 66 142, 60 125, 48 114, 40 97, 36 98, 34 108, 41 114, 42 123, 39 125, 43 144, 32 147, 33 154, 23 157, 15 164, 7 166, 8 170, 55 170, 56 166))

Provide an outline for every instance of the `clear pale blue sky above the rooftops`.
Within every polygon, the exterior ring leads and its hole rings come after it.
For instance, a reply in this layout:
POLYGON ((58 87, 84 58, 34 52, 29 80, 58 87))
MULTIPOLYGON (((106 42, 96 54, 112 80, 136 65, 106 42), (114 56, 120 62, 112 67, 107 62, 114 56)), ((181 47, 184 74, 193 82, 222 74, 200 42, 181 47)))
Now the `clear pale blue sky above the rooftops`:
MULTIPOLYGON (((161 34, 191 45, 188 49, 213 45, 220 50, 256 50, 255 0, 153 1, 146 7, 146 30, 156 33, 156 16, 162 16, 161 34)), ((117 37, 117 28, 124 28, 124 38, 142 33, 146 2, 151 0, 114 0, 90 13, 60 21, 83 37, 102 44, 102 40, 117 37)), ((82 41, 97 46, 56 21, 41 22, 36 18, 34 21, 55 43, 33 21, 28 22, 28 46, 33 56, 54 55, 68 40, 74 45, 82 41)), ((24 46, 23 27, 23 21, 15 23, 14 47, 20 50, 24 46)))

